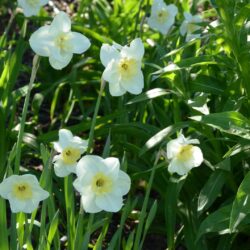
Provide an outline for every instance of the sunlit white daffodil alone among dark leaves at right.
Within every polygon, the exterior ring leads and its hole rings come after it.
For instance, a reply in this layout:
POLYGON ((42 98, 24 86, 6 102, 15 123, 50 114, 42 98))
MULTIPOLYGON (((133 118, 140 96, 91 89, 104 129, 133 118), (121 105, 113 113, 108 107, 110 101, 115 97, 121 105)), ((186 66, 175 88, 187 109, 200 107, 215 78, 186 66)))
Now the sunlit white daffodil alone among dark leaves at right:
POLYGON ((170 160, 168 171, 185 175, 194 167, 203 162, 203 154, 199 147, 191 144, 199 144, 199 140, 188 140, 182 134, 167 144, 167 158, 170 160))

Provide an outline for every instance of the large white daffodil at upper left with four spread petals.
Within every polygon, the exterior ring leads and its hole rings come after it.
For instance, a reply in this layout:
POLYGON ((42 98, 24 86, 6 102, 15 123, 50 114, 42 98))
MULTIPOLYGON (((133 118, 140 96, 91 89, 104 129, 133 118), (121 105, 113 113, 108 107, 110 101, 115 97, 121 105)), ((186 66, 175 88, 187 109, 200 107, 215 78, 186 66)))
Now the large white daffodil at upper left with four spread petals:
POLYGON ((30 37, 30 46, 39 56, 49 57, 54 69, 66 67, 73 53, 81 54, 90 47, 84 35, 71 31, 71 20, 64 12, 59 12, 51 25, 45 25, 30 37))

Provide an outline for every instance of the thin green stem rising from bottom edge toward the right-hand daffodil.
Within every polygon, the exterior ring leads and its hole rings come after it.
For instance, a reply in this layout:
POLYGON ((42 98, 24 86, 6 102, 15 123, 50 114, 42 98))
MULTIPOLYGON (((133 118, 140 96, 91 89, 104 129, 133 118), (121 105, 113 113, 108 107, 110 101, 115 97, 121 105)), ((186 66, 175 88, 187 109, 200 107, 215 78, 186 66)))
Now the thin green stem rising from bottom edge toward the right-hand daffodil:
POLYGON ((160 158, 160 153, 157 154, 154 166, 152 168, 152 172, 149 178, 149 182, 146 188, 146 195, 145 195, 145 199, 143 201, 143 205, 142 205, 142 210, 139 216, 139 224, 138 224, 138 228, 136 230, 136 236, 135 236, 135 243, 134 243, 134 250, 140 250, 142 247, 142 243, 141 242, 141 236, 142 236, 142 231, 143 231, 143 226, 144 226, 144 221, 146 219, 146 215, 147 215, 147 206, 148 206, 148 200, 149 200, 149 195, 150 195, 150 191, 152 188, 152 184, 153 184, 153 180, 154 180, 154 176, 155 176, 155 170, 156 170, 156 166, 158 163, 158 160, 160 158))

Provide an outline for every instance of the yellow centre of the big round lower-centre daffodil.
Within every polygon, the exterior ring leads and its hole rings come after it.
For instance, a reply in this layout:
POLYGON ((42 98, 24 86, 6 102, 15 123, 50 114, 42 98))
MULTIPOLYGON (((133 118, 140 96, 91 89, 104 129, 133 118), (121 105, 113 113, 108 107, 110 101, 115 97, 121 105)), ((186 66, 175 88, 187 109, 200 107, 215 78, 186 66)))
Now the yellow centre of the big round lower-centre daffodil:
POLYGON ((103 173, 97 173, 92 180, 92 190, 96 195, 105 194, 111 191, 113 186, 112 179, 103 173))

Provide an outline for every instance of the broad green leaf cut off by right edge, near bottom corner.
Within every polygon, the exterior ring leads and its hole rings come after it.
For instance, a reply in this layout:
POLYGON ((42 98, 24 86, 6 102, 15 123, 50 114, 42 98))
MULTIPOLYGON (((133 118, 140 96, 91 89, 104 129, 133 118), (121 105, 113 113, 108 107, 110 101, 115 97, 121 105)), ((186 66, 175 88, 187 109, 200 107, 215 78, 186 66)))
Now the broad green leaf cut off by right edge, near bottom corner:
POLYGON ((234 232, 250 213, 250 172, 247 173, 237 191, 230 215, 230 231, 234 232))

